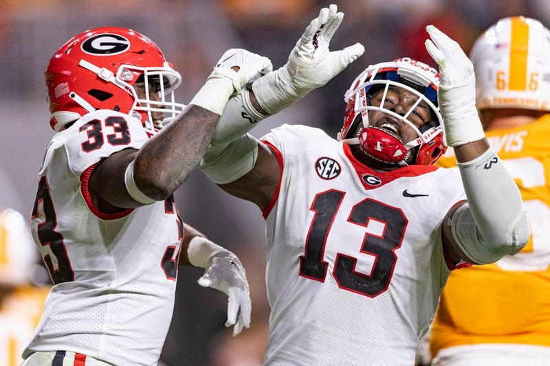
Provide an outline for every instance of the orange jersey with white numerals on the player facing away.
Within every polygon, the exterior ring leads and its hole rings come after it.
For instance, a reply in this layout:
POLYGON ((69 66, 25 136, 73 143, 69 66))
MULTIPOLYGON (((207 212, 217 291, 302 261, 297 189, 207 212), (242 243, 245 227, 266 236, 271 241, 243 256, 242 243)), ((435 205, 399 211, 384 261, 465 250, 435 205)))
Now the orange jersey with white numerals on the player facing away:
MULTIPOLYGON (((481 343, 550 347, 550 115, 486 135, 520 188, 531 238, 514 256, 451 273, 432 325, 434 355, 481 343)), ((456 165, 452 151, 439 164, 456 165)))

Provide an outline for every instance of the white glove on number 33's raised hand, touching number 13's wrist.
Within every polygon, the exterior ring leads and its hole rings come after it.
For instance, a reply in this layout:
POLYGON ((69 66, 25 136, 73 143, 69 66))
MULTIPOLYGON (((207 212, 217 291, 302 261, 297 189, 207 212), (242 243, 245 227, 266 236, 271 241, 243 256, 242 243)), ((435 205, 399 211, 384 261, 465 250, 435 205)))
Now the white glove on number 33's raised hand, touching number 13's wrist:
POLYGON ((272 69, 271 61, 267 57, 252 54, 245 49, 229 49, 218 60, 206 83, 189 104, 222 115, 231 95, 236 95, 248 82, 272 69), (234 66, 239 67, 239 71, 234 71, 234 66))

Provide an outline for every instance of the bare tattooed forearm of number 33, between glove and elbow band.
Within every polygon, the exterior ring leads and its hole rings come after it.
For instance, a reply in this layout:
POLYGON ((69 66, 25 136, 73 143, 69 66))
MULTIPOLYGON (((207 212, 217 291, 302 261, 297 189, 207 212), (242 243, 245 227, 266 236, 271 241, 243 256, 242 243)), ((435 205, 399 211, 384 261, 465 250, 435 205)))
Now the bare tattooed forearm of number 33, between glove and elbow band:
POLYGON ((217 113, 190 105, 147 141, 134 163, 140 190, 155 201, 170 196, 199 165, 218 120, 217 113))

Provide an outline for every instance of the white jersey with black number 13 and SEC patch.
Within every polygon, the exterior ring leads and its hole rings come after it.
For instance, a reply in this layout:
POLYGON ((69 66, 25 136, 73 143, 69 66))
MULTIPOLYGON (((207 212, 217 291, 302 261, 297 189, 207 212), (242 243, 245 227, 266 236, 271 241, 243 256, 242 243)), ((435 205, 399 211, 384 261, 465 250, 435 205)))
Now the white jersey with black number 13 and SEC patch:
POLYGON ((412 365, 450 269, 441 224, 457 170, 376 172, 306 126, 263 138, 281 186, 267 220, 267 365, 412 365))

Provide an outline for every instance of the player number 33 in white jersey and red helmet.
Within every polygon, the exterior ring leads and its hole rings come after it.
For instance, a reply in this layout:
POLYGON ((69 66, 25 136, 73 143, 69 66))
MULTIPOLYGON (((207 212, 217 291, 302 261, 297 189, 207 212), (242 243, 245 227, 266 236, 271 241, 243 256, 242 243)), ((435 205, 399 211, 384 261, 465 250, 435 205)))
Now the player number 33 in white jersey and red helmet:
POLYGON ((230 50, 185 107, 173 99, 179 73, 142 34, 96 28, 58 49, 45 71, 56 135, 31 222, 54 286, 25 365, 156 365, 178 264, 206 268, 199 284, 229 295, 226 325, 248 327, 241 262, 184 225, 173 192, 230 95, 270 67, 230 50))

